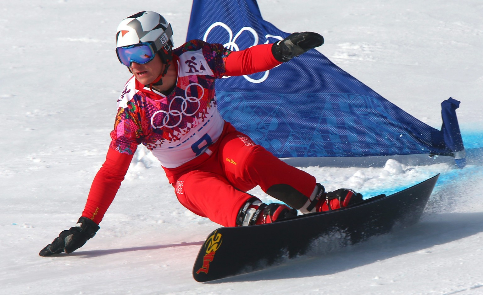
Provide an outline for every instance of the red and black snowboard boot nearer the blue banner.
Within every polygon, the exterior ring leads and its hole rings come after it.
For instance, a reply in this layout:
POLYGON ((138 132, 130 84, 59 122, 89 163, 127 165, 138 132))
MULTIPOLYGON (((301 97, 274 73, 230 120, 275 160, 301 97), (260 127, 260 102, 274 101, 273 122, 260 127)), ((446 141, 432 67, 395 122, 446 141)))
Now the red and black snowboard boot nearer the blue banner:
POLYGON ((324 186, 317 184, 313 196, 300 208, 300 212, 307 214, 313 212, 332 211, 354 205, 362 201, 362 195, 349 188, 339 188, 326 192, 324 186))

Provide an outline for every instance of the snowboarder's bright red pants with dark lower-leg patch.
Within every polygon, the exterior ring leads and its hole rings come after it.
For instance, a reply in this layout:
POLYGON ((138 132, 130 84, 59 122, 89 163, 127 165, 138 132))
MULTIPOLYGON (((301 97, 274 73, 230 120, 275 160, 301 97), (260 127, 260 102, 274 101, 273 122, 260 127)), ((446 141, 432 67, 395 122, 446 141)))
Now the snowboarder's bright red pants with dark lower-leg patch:
MULTIPOLYGON (((235 226, 241 207, 253 197, 246 191, 257 185, 265 192, 269 190, 269 194, 270 188, 284 185, 278 188, 292 191, 284 201, 302 199, 295 200, 299 204, 305 203, 315 188, 312 175, 273 156, 229 123, 225 123, 223 134, 207 152, 180 167, 164 169, 186 208, 228 227, 235 226)), ((272 196, 279 197, 280 191, 284 190, 278 189, 272 196)))

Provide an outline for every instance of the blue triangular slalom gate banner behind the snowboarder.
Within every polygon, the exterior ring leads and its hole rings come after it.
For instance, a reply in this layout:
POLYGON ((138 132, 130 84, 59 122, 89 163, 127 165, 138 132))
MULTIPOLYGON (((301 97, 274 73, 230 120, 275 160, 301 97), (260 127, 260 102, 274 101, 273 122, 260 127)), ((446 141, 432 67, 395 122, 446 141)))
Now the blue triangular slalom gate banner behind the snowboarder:
MULTIPOLYGON (((186 40, 239 51, 288 35, 263 20, 256 0, 194 0, 186 40)), ((279 158, 437 154, 464 161, 459 101, 441 104, 437 130, 316 50, 266 72, 217 80, 216 96, 226 121, 279 158)))

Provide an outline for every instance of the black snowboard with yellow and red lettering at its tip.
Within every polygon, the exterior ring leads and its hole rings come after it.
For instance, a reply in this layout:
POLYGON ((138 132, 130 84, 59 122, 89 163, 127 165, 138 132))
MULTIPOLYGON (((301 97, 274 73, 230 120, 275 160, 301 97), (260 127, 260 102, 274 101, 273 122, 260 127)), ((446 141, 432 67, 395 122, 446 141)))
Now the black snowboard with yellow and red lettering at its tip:
POLYGON ((218 228, 201 246, 193 277, 208 282, 263 269, 305 254, 318 237, 337 237, 340 244, 347 245, 411 226, 423 214, 438 177, 327 213, 298 215, 257 226, 218 228))

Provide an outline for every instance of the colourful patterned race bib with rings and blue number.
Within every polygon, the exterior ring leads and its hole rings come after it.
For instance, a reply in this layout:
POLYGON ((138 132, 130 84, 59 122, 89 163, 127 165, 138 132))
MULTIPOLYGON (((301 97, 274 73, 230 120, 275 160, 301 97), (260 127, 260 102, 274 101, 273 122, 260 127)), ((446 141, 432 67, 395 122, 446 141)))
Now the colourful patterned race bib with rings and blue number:
POLYGON ((222 44, 201 40, 174 49, 178 80, 167 96, 131 77, 117 101, 110 147, 131 155, 143 144, 166 168, 200 155, 223 130, 214 81, 225 74, 229 53, 222 44))

